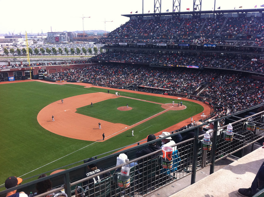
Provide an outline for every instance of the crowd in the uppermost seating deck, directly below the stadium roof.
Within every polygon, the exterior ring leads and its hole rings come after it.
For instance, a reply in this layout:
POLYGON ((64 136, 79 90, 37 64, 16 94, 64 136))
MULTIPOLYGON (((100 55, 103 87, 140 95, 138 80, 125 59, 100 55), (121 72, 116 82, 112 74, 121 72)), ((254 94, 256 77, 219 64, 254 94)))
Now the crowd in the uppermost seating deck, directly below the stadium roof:
POLYGON ((162 38, 176 36, 181 38, 187 35, 202 37, 236 36, 263 34, 264 25, 261 17, 218 17, 218 18, 179 18, 172 16, 170 19, 130 20, 126 24, 109 33, 109 38, 118 34, 121 37, 137 36, 151 37, 155 35, 162 38))

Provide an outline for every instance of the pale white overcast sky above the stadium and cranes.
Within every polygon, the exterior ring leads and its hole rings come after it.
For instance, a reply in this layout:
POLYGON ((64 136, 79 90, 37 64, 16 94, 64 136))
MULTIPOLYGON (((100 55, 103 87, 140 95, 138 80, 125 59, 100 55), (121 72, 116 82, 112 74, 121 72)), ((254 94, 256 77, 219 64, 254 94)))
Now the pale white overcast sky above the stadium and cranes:
MULTIPOLYGON (((159 0, 160 2, 161 0, 159 0)), ((154 1, 143 0, 144 13, 153 13, 154 1)), ((173 0, 161 1, 161 12, 172 12, 173 0)), ((176 1, 178 2, 178 1, 176 1)), ((199 0, 197 0, 199 2, 199 0)), ((182 0, 181 11, 190 8, 192 11, 193 0, 182 0)), ((221 10, 228 9, 257 9, 263 5, 263 0, 216 0, 215 9, 220 6, 221 10)), ((0 34, 25 34, 43 33, 56 31, 82 31, 82 22, 84 21, 84 30, 106 30, 112 31, 122 24, 126 23, 129 18, 121 14, 142 13, 142 0, 79 0, 79 1, 62 1, 62 0, 0 0, 1 20, 0 34), (90 17, 84 18, 82 16, 90 17), (109 22, 105 22, 109 21, 109 22), (111 22, 112 21, 112 22, 111 22)), ((202 0, 202 11, 213 10, 214 0, 202 0)))

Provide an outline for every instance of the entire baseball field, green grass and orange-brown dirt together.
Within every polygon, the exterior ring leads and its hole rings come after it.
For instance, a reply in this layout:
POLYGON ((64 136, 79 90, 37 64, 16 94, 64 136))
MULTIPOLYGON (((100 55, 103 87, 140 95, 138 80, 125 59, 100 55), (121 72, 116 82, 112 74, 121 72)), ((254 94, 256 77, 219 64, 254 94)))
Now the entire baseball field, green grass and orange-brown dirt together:
POLYGON ((210 112, 199 101, 88 84, 31 80, 0 83, 0 92, 1 186, 9 176, 26 178, 50 171, 151 133, 176 130, 190 123, 191 116, 198 120, 202 112, 210 112))

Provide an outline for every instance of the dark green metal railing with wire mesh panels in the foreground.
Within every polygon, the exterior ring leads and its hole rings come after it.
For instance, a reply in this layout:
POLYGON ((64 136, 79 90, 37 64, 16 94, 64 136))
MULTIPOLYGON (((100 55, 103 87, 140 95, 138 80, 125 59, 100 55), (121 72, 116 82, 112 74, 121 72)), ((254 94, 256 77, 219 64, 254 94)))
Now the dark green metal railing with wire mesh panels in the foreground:
MULTIPOLYGON (((10 188, 0 192, 0 197, 6 196, 6 193, 17 189, 18 191, 24 191, 29 194, 35 191, 35 184, 37 182, 50 179, 53 183, 53 190, 46 193, 42 193, 37 197, 46 196, 52 192, 59 192, 64 189, 67 196, 84 197, 93 196, 135 196, 137 194, 145 195, 147 193, 153 192, 158 188, 164 187, 169 183, 178 181, 179 179, 191 175, 191 184, 195 183, 196 172, 206 166, 210 166, 210 174, 214 173, 215 162, 225 158, 228 155, 236 155, 238 157, 243 157, 243 149, 247 146, 252 146, 254 143, 262 144, 264 137, 264 111, 263 103, 246 110, 225 116, 213 120, 214 129, 210 130, 212 147, 211 151, 202 149, 202 138, 203 135, 198 135, 199 126, 182 130, 179 132, 171 131, 172 139, 179 133, 186 133, 189 131, 194 131, 195 135, 189 140, 177 143, 177 152, 175 151, 173 155, 173 168, 171 170, 166 170, 161 167, 161 150, 147 154, 143 157, 136 158, 135 153, 138 150, 143 149, 148 146, 148 143, 141 144, 135 143, 134 147, 123 150, 124 147, 118 150, 111 150, 109 152, 113 153, 107 156, 104 154, 94 156, 95 160, 84 164, 83 161, 79 161, 80 165, 72 167, 70 169, 60 171, 56 174, 49 175, 47 177, 37 179, 39 175, 34 177, 29 177, 32 180, 28 183, 17 186, 16 188, 10 188), (261 110, 262 109, 262 110, 261 110), (217 127, 217 122, 219 120, 225 121, 225 126, 217 127), (233 140, 226 141, 224 139, 224 132, 226 126, 231 123, 233 126, 233 140), (255 130, 248 129, 248 123, 255 126, 255 130), (119 151, 122 150, 122 151, 119 151), (119 152, 117 152, 119 151, 119 152), (130 163, 138 162, 134 167, 131 167, 131 182, 128 188, 119 188, 117 184, 116 171, 121 166, 116 167, 116 157, 120 153, 127 154, 130 159, 130 163), (151 157, 157 154, 157 157, 151 157), (102 167, 106 169, 98 174, 89 176, 89 178, 83 178, 86 172, 87 164, 97 163, 97 167, 102 167), (100 182, 94 184, 87 191, 77 190, 76 188, 84 188, 84 181, 91 179, 105 172, 111 172, 111 175, 105 179, 101 179, 100 182), (36 179, 36 180, 35 180, 36 179)), ((203 125, 208 125, 208 120, 204 120, 203 125)), ((167 136, 166 136, 167 137, 167 136)), ((164 137, 164 138, 166 138, 164 137)), ((155 141, 160 144, 161 139, 156 139, 155 141)), ((151 142, 153 143, 153 141, 151 142)), ((76 164, 75 163, 75 164, 76 164)), ((64 167, 61 167, 63 169, 64 167)), ((54 169, 56 170, 56 169, 54 169)), ((54 171, 52 170, 52 171, 54 171)), ((49 172, 43 172, 43 174, 50 174, 49 172)))

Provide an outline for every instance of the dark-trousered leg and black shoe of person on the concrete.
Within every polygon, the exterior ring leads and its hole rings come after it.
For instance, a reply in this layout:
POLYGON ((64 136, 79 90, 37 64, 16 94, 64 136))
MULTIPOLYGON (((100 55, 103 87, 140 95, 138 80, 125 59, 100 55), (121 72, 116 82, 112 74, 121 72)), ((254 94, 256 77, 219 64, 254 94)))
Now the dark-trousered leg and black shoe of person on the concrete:
MULTIPOLYGON (((264 142, 262 148, 264 148, 264 142)), ((240 193, 242 196, 252 197, 263 188, 264 188, 264 162, 261 164, 258 173, 256 174, 255 179, 251 184, 251 187, 240 188, 238 189, 238 193, 240 193)))

